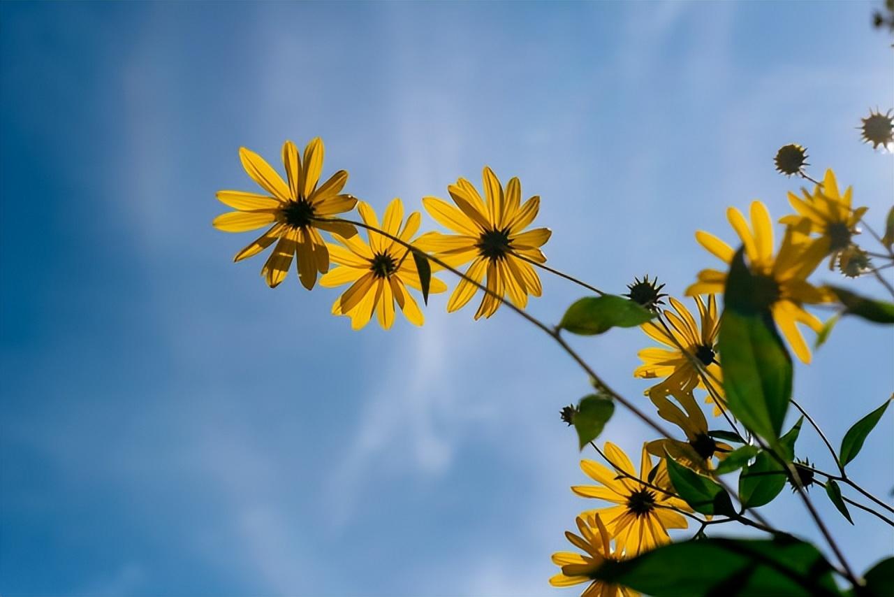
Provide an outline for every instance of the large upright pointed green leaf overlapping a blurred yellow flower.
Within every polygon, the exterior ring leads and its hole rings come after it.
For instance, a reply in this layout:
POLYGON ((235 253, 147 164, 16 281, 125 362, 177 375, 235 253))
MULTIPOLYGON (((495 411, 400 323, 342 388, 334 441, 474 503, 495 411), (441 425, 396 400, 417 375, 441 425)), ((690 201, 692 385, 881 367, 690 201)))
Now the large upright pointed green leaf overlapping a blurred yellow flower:
POLYGON ((782 345, 762 278, 751 274, 739 249, 730 264, 718 347, 730 411, 749 431, 776 443, 791 398, 791 357, 782 345))

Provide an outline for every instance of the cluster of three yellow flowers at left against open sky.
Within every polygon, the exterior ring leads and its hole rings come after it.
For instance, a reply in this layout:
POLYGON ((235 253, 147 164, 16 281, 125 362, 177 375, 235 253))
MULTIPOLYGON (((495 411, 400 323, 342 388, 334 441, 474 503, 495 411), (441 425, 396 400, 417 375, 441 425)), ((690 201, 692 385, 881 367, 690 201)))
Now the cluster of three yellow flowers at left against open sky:
MULTIPOLYGON (((266 260, 261 275, 273 288, 283 282, 294 258, 301 284, 308 290, 316 285, 350 287, 333 304, 334 315, 350 317, 351 327, 363 328, 373 314, 383 328, 391 328, 394 304, 400 307, 411 323, 424 321, 418 303, 407 289, 423 290, 416 260, 408 256, 410 247, 430 253, 440 264, 459 268, 469 262, 465 277, 460 280, 447 303, 447 311, 457 311, 476 294, 477 285, 485 293, 475 319, 490 317, 508 295, 519 308, 527 304, 528 295, 540 296, 540 278, 532 265, 544 263, 540 247, 552 234, 548 228, 527 230, 540 209, 540 198, 521 202, 521 184, 510 179, 503 188, 493 171, 485 167, 485 198, 472 183, 460 178, 447 191, 456 207, 436 197, 425 197, 426 211, 452 234, 428 232, 414 238, 421 217, 418 211, 404 222, 400 199, 392 200, 385 209, 381 224, 375 210, 350 194, 342 193, 348 173, 339 170, 319 184, 323 170, 324 147, 319 138, 308 143, 304 158, 291 141, 283 145, 283 181, 273 167, 249 149, 239 152, 242 166, 267 193, 220 191, 217 199, 236 209, 214 220, 214 226, 225 232, 247 232, 270 226, 246 248, 236 253, 239 261, 257 255, 276 243, 266 260), (347 219, 344 214, 357 207, 362 222, 347 219), (367 228, 368 242, 358 235, 357 226, 367 228), (402 226, 402 227, 401 227, 402 226), (327 243, 320 232, 333 236, 327 243), (338 267, 330 271, 330 265, 338 267)), ((432 278, 427 292, 443 293, 447 286, 432 278)))

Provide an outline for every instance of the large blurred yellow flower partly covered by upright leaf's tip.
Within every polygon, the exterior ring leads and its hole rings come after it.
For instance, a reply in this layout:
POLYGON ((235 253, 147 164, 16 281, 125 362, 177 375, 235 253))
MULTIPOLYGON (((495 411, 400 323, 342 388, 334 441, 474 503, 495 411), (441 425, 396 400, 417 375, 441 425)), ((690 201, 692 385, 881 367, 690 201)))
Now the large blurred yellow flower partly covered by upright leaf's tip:
MULTIPOLYGON (((829 245, 812 242, 808 238, 812 223, 803 218, 796 225, 788 226, 779 252, 773 257, 772 221, 762 202, 754 201, 751 204, 754 231, 748 228, 745 217, 738 209, 728 209, 727 217, 745 245, 751 273, 757 277, 758 295, 755 295, 755 301, 772 311, 773 320, 797 358, 810 362, 810 349, 796 323, 803 323, 818 333, 822 329, 822 321, 805 311, 804 304, 835 300, 831 293, 807 282, 807 277, 822 261, 829 245)), ((696 240, 724 263, 729 265, 732 262, 735 252, 716 236, 699 230, 696 240)), ((703 269, 698 272, 698 281, 687 288, 686 294, 722 293, 726 277, 724 271, 703 269)))

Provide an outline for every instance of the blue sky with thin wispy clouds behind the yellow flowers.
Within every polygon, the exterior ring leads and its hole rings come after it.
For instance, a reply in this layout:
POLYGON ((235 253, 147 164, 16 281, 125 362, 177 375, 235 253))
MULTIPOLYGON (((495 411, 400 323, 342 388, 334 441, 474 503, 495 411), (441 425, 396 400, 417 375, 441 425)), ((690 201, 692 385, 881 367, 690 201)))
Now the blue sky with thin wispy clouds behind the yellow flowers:
MULTIPOLYGON (((509 311, 439 296, 425 328, 355 333, 336 291, 266 288, 261 258, 232 264, 248 235, 210 226, 215 191, 253 189, 238 148, 275 164, 319 135, 376 209, 488 164, 542 196, 552 265, 679 295, 713 266, 696 229, 788 210, 785 143, 881 222, 891 156, 854 128, 894 104, 873 6, 4 3, 0 593, 557 593, 592 506, 558 411, 586 378, 509 311)), ((529 309, 580 295, 546 279, 529 309)), ((892 382, 890 329, 845 323, 796 377, 835 443, 892 382)), ((575 345, 641 395, 642 333, 575 345)), ((853 464, 881 495, 891 431, 853 464)), ((619 413, 603 439, 654 438, 619 413)), ((831 466, 809 431, 797 451, 831 466)), ((890 554, 814 499, 856 568, 890 554)), ((766 510, 817 539, 796 499, 766 510)))

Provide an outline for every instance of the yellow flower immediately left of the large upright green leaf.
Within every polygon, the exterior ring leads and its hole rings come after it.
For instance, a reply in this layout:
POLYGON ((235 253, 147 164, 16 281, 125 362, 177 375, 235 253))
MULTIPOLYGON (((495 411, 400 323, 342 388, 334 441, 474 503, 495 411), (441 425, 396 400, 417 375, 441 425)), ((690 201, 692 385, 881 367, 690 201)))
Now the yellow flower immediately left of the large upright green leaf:
MULTIPOLYGON (((712 294, 705 305, 701 296, 696 295, 694 298, 701 328, 686 305, 673 297, 670 298, 671 307, 676 312, 670 309, 663 312, 663 317, 668 320, 668 328, 654 321, 641 326, 646 336, 668 346, 644 348, 637 353, 643 364, 633 371, 634 377, 645 380, 665 378, 658 386, 645 390, 645 394, 659 386, 684 391, 710 388, 707 402, 713 403, 714 396, 722 399, 721 366, 717 362, 717 332, 720 331, 721 323, 717 313, 717 300, 712 294), (704 373, 700 371, 700 367, 704 369, 704 373)), ((720 406, 714 405, 714 416, 718 414, 721 414, 720 406)))

